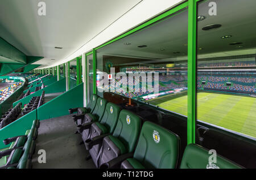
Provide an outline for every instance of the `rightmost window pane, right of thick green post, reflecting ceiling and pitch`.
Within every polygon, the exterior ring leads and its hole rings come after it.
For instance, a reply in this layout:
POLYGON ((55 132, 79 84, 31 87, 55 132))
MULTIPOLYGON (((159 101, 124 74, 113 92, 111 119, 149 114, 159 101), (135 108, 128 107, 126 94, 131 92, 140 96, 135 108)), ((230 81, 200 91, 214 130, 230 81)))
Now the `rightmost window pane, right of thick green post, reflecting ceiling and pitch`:
POLYGON ((197 119, 256 137, 256 1, 214 1, 216 16, 209 2, 198 10, 197 119))

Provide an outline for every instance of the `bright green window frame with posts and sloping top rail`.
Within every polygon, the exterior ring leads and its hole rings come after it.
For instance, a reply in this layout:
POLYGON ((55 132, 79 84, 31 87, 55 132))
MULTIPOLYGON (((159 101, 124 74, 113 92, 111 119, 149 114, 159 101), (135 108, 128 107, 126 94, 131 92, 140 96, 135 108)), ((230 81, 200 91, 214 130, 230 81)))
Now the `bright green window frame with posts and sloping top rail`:
MULTIPOLYGON (((87 56, 93 54, 93 93, 97 94, 97 87, 96 87, 96 71, 97 71, 97 57, 96 57, 96 50, 106 45, 113 43, 122 37, 127 35, 133 34, 139 30, 142 30, 145 27, 151 26, 152 24, 159 22, 159 20, 163 20, 167 16, 174 14, 177 11, 182 9, 188 8, 188 116, 187 116, 187 144, 195 143, 195 127, 196 127, 196 22, 197 22, 197 2, 199 0, 188 0, 185 2, 181 2, 179 5, 172 7, 170 10, 163 12, 162 14, 155 16, 154 18, 148 20, 143 24, 139 24, 137 27, 133 28, 125 32, 118 37, 115 37, 108 42, 99 45, 96 48, 93 48, 92 51, 85 53, 85 76, 86 76, 86 83, 88 82, 87 79, 87 56)), ((70 62, 70 61, 69 61, 70 62)), ((69 62, 67 62, 67 70, 68 70, 68 81, 69 81, 69 62)), ((80 67, 80 65, 79 65, 80 67)), ((65 65, 64 65, 65 68, 65 65)), ((77 79, 80 81, 80 68, 77 68, 77 79)), ((77 83, 79 83, 79 81, 77 83)), ((81 81, 82 82, 82 81, 81 81)), ((69 82, 68 82, 69 83, 69 82)), ((86 86, 86 99, 87 97, 87 86, 86 86)))

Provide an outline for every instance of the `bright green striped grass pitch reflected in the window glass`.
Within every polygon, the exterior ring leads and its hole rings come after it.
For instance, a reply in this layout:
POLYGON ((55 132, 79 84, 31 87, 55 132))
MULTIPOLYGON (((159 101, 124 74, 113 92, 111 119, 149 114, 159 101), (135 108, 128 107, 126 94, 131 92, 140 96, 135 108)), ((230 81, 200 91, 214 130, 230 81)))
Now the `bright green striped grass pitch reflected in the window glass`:
MULTIPOLYGON (((166 95, 147 102, 187 116, 187 95, 174 99, 166 95)), ((256 98, 198 93, 197 119, 256 137, 256 98)))

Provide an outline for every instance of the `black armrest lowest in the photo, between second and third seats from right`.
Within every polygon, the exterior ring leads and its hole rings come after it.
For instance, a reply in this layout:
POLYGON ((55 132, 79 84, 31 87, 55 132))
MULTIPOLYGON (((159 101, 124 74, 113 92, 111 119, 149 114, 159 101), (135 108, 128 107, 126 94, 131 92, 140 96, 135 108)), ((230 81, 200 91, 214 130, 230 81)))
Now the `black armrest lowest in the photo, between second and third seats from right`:
POLYGON ((110 160, 109 162, 106 162, 100 166, 100 169, 116 169, 120 168, 121 163, 127 158, 133 157, 133 153, 127 153, 127 154, 122 154, 121 156, 118 156, 114 158, 113 160, 110 160))

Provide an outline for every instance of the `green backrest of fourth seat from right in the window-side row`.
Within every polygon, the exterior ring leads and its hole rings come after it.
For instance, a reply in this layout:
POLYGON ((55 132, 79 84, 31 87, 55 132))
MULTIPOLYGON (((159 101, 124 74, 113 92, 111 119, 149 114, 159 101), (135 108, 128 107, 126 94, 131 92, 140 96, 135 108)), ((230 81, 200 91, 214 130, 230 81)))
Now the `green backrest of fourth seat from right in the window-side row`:
POLYGON ((117 125, 117 120, 120 112, 120 107, 114 103, 106 104, 104 115, 101 119, 101 124, 108 129, 109 133, 113 133, 115 125, 117 125))

